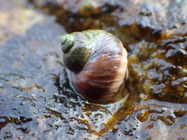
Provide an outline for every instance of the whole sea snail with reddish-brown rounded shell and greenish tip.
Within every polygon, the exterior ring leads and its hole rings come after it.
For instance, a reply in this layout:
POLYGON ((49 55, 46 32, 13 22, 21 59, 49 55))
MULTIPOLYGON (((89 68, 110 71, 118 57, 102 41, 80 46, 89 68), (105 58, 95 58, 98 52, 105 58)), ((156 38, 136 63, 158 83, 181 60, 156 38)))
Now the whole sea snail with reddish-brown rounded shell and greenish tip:
POLYGON ((124 86, 127 52, 121 41, 103 30, 61 37, 63 61, 75 90, 92 101, 108 101, 124 86))

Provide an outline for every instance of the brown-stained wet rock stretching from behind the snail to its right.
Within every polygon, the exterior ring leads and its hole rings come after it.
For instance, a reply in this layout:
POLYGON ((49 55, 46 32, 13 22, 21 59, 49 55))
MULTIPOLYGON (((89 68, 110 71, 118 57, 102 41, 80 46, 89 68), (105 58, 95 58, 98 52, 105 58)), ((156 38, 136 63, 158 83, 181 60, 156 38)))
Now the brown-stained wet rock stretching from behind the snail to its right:
POLYGON ((133 94, 187 103, 185 0, 31 2, 70 31, 102 28, 117 35, 129 51, 129 87, 138 87, 133 94))

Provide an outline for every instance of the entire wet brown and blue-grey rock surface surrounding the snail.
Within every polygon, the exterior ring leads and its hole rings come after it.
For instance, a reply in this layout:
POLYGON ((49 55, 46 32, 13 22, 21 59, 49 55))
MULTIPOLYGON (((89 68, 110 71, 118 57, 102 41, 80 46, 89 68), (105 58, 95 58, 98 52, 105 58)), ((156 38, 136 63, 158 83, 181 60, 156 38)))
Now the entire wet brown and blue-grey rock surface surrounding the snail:
POLYGON ((187 139, 186 0, 29 2, 0 0, 0 140, 187 139), (69 86, 59 36, 90 28, 128 50, 129 96, 118 102, 69 86))

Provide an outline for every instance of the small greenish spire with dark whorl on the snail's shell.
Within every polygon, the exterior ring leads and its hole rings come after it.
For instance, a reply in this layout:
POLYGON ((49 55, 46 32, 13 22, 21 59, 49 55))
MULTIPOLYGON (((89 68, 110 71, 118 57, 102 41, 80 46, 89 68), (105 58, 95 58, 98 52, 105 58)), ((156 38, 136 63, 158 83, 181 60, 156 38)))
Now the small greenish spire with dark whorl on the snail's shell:
POLYGON ((65 66, 71 71, 80 71, 90 57, 90 37, 75 32, 62 36, 61 42, 65 66))

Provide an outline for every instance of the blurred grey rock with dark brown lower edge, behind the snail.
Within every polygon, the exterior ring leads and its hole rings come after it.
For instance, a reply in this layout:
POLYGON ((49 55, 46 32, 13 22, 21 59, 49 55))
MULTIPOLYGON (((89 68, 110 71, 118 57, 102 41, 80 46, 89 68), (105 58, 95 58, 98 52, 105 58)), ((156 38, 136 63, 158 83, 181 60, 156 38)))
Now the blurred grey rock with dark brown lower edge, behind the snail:
POLYGON ((56 15, 69 31, 102 28, 118 35, 125 44, 186 34, 185 0, 29 0, 56 15))

